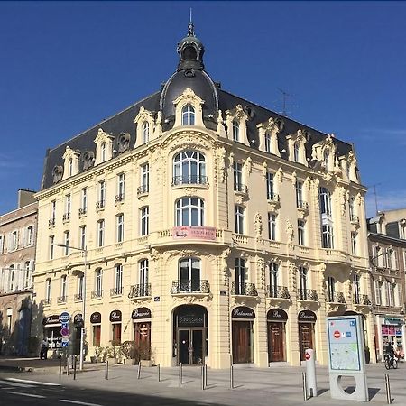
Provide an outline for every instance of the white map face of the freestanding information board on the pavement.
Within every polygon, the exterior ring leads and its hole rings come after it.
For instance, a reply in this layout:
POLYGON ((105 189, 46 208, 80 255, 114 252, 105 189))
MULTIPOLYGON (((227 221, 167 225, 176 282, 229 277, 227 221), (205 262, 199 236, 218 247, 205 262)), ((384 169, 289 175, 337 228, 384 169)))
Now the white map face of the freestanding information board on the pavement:
POLYGON ((361 370, 356 323, 356 318, 328 320, 330 368, 332 370, 361 370))

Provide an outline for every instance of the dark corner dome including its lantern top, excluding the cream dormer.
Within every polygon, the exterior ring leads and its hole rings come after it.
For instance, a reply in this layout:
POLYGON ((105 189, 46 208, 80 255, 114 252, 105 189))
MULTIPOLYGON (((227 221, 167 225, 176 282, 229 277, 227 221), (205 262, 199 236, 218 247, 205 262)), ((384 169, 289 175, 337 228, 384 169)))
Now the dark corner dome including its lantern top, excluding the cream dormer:
POLYGON ((177 51, 180 61, 176 72, 165 83, 161 91, 160 109, 164 131, 171 128, 175 121, 176 100, 190 88, 203 100, 203 122, 208 128, 217 128, 218 94, 217 86, 204 70, 203 54, 205 47, 195 36, 193 23, 189 23, 188 35, 183 38, 177 51))

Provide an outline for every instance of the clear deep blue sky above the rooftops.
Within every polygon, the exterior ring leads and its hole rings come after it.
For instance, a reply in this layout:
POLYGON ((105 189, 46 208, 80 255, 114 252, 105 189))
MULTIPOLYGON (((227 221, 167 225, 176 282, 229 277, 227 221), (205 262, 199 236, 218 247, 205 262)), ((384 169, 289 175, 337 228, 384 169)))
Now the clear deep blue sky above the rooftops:
POLYGON ((406 3, 0 2, 0 213, 47 148, 160 88, 190 6, 214 80, 276 111, 292 94, 293 119, 355 143, 379 209, 406 207, 406 3))

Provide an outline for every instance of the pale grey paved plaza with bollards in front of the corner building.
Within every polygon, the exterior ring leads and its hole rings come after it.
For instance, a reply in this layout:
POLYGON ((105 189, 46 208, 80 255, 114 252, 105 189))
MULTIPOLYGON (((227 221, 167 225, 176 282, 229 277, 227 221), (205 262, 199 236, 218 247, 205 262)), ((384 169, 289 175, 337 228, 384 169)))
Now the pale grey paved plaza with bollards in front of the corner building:
MULTIPOLYGON (((50 364, 58 360, 50 360, 50 364)), ((28 362, 28 361, 27 361, 28 362)), ((32 360, 32 363, 34 360, 32 360)), ((38 360, 40 363, 40 360, 38 360)), ((1 364, 1 361, 0 361, 1 364)), ((33 364, 32 364, 33 365, 33 364)), ((58 364, 59 365, 59 364, 58 364)), ((85 371, 73 375, 63 374, 59 378, 58 365, 50 368, 35 369, 32 374, 22 374, 24 379, 42 380, 60 383, 75 389, 91 389, 97 392, 119 392, 123 394, 145 394, 162 398, 194 401, 198 404, 217 405, 343 405, 346 401, 330 398, 328 368, 318 366, 318 397, 303 400, 302 376, 305 368, 235 368, 235 388, 230 389, 229 370, 211 370, 208 368, 208 387, 201 389, 201 369, 184 367, 182 385, 179 385, 179 368, 161 368, 161 382, 158 382, 157 368, 142 368, 141 379, 137 379, 138 366, 114 365, 109 369, 106 380, 105 364, 86 364, 85 371)), ((406 364, 400 364, 398 370, 386 371, 383 364, 367 365, 370 401, 374 405, 386 404, 384 374, 389 374, 392 385, 393 403, 406 406, 406 364)), ((345 386, 353 383, 345 380, 345 386)), ((117 395, 117 401, 119 396, 117 395)), ((351 403, 351 402, 350 402, 351 403)), ((108 404, 108 403, 103 403, 108 404)))

